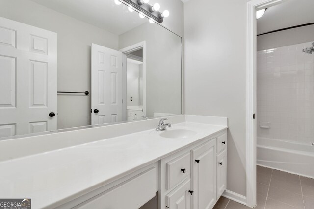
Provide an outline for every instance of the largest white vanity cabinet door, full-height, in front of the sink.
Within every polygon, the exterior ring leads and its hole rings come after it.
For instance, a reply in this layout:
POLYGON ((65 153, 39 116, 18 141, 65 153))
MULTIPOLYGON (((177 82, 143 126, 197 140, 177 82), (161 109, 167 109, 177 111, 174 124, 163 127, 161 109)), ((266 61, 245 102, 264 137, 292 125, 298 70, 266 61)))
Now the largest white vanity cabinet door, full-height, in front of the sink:
POLYGON ((216 139, 191 151, 193 209, 211 209, 216 203, 216 139))

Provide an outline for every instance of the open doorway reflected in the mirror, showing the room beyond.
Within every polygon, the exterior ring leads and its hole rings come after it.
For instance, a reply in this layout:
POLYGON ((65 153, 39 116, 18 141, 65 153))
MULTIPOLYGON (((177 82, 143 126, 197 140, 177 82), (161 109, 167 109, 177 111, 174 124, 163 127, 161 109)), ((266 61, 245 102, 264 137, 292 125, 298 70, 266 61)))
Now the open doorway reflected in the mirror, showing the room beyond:
POLYGON ((144 117, 143 49, 127 53, 127 120, 144 117))

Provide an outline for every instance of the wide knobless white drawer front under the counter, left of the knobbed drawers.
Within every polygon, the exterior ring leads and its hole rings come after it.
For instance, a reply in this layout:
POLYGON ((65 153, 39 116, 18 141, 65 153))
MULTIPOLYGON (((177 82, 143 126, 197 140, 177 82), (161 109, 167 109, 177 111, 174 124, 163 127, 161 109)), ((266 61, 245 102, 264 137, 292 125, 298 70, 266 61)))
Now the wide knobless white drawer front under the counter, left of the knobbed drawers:
POLYGON ((75 208, 138 209, 155 196, 156 186, 156 168, 154 167, 75 208))

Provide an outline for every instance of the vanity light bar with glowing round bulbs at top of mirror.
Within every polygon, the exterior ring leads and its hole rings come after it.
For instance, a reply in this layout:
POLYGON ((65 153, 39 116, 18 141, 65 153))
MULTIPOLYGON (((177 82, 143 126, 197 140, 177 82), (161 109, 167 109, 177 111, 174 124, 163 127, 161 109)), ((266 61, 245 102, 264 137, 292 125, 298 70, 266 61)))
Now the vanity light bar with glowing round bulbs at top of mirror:
POLYGON ((160 4, 155 3, 153 6, 148 4, 149 0, 114 0, 119 5, 120 2, 128 6, 129 11, 138 11, 139 17, 148 17, 150 23, 162 23, 163 18, 169 16, 169 11, 159 12, 160 4))

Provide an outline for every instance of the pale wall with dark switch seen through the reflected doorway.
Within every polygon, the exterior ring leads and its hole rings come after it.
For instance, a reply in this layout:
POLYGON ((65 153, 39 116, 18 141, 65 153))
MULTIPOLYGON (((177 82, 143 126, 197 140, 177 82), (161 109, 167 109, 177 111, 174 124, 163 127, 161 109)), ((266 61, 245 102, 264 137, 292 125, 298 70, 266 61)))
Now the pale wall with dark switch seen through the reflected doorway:
POLYGON ((139 64, 127 62, 127 106, 135 105, 139 105, 139 64))

